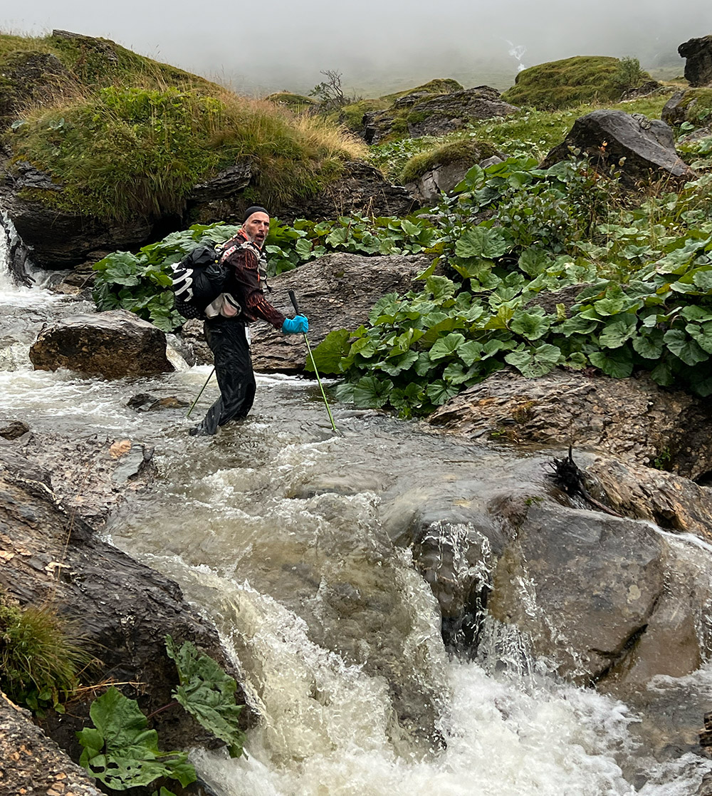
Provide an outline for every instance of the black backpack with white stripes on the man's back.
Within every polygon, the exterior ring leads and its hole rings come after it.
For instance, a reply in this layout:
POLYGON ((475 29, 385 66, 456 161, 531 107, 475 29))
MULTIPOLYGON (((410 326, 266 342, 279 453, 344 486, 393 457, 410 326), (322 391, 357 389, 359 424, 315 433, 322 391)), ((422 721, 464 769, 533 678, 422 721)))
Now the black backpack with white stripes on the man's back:
POLYGON ((207 240, 171 266, 175 307, 184 318, 204 318, 205 307, 223 292, 222 257, 223 252, 207 240))

